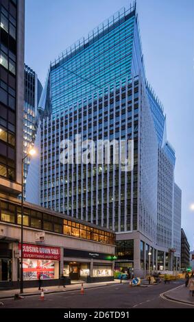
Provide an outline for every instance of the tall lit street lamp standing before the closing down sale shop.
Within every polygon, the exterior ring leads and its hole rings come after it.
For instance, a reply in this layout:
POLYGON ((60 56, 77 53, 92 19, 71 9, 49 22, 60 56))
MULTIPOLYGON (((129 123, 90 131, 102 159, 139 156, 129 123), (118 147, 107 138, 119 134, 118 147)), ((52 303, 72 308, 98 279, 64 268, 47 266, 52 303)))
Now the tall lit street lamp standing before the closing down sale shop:
POLYGON ((30 149, 21 160, 21 277, 20 277, 20 293, 23 293, 23 163, 28 156, 34 156, 35 149, 30 149))

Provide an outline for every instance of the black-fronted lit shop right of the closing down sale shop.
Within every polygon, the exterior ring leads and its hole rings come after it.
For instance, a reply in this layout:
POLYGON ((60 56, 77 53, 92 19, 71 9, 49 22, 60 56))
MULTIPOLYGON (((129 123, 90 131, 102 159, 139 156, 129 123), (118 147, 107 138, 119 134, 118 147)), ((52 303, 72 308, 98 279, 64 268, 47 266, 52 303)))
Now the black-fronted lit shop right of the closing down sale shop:
POLYGON ((114 256, 106 253, 64 249, 63 275, 71 280, 112 280, 114 256))

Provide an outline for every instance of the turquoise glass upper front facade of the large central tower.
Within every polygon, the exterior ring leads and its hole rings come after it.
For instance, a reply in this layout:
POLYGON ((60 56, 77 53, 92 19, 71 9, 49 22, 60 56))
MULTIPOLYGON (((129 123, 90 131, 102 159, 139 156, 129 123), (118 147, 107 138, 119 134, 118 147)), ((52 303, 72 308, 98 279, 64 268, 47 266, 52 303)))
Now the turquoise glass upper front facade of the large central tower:
POLYGON ((125 82, 132 65, 135 19, 134 7, 119 11, 51 64, 53 114, 68 110, 70 103, 94 90, 125 82))

